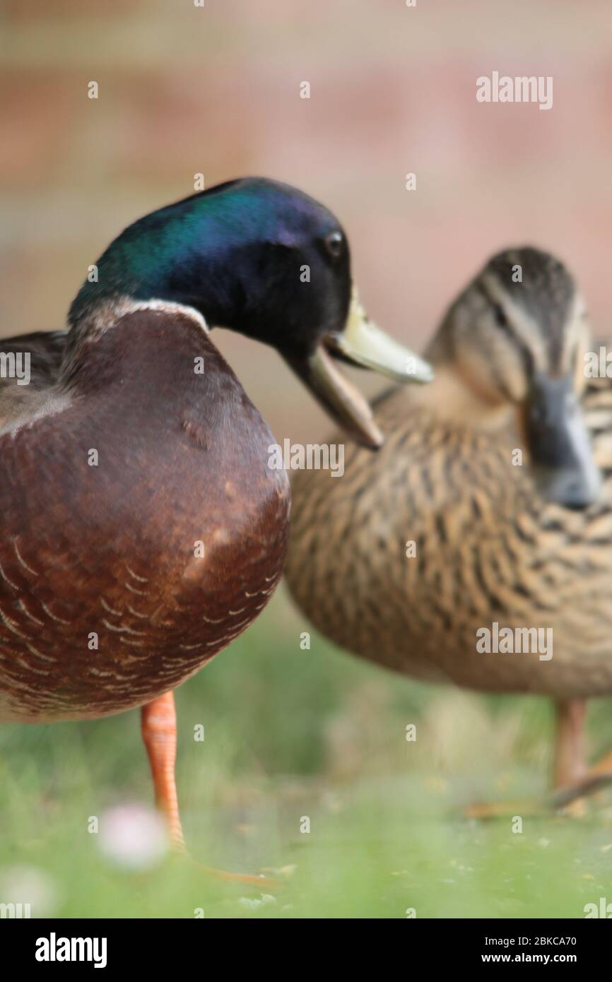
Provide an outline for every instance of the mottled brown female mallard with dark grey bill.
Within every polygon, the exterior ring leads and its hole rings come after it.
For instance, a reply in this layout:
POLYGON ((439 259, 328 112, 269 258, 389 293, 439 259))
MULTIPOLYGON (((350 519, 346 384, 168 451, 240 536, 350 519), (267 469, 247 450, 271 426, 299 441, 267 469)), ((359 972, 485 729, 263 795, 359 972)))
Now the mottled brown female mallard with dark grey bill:
POLYGON ((287 564, 299 605, 351 651, 552 696, 555 784, 577 793, 584 700, 612 691, 612 384, 585 378, 588 343, 560 262, 496 255, 427 350, 433 383, 375 405, 381 451, 348 450, 342 480, 296 475, 287 564))

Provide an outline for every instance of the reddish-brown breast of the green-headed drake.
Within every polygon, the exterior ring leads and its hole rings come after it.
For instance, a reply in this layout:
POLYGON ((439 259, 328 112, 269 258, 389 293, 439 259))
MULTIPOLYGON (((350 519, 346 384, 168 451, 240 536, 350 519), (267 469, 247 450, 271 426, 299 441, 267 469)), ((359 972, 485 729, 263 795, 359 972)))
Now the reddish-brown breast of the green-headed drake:
POLYGON ((0 436, 4 720, 166 692, 250 624, 282 571, 286 476, 203 332, 141 311, 95 346, 65 408, 0 436))

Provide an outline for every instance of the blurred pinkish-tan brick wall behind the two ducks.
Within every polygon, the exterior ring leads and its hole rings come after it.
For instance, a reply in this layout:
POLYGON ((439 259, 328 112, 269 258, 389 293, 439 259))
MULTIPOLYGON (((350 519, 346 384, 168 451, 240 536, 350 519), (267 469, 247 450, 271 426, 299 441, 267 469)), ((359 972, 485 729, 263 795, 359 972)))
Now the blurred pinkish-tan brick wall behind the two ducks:
MULTIPOLYGON (((2 18, 3 334, 59 326, 87 264, 198 171, 320 197, 371 313, 417 344, 510 243, 565 257, 610 330, 608 0, 5 0, 2 18), (553 108, 477 103, 495 69, 551 75, 553 108)), ((274 353, 219 344, 279 438, 324 432, 274 353)))

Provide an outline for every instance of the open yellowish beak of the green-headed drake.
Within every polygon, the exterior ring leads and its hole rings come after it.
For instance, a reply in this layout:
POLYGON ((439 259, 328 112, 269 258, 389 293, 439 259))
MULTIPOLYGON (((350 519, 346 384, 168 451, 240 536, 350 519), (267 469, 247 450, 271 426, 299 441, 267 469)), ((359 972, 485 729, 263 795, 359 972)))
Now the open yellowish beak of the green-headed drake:
POLYGON ((318 402, 363 447, 384 443, 369 404, 334 363, 334 358, 370 368, 399 382, 430 382, 431 366, 368 320, 354 290, 345 327, 322 339, 306 363, 291 365, 318 402))

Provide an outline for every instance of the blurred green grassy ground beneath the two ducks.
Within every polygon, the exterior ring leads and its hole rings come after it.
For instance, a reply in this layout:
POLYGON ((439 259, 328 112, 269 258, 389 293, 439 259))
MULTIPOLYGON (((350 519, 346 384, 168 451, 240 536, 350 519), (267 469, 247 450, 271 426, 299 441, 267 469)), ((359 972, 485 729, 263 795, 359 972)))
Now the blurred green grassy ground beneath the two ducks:
MULTIPOLYGON (((306 627, 277 596, 177 693, 194 858, 276 882, 221 883, 188 859, 154 859, 128 713, 0 728, 0 902, 66 917, 582 917, 585 903, 612 900, 612 791, 582 819, 521 806, 494 822, 462 817, 462 804, 543 791, 545 700, 403 680, 314 633, 304 651, 306 627), (139 870, 109 833, 132 813, 139 870)), ((611 708, 591 707, 593 753, 612 746, 611 708)))

